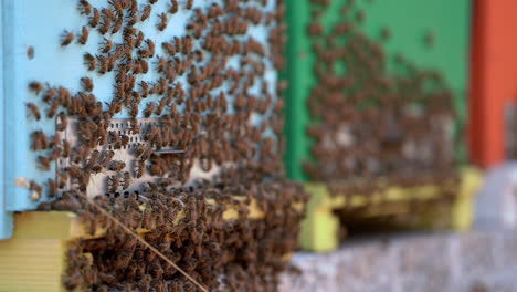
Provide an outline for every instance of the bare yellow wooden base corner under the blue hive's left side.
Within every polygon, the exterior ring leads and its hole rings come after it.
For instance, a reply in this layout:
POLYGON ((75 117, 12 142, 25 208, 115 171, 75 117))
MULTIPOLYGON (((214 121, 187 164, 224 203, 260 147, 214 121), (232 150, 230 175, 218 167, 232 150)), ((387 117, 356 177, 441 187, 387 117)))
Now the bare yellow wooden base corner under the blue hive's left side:
POLYGON ((66 244, 86 236, 71 212, 17 213, 12 239, 0 240, 0 292, 63 291, 66 244))

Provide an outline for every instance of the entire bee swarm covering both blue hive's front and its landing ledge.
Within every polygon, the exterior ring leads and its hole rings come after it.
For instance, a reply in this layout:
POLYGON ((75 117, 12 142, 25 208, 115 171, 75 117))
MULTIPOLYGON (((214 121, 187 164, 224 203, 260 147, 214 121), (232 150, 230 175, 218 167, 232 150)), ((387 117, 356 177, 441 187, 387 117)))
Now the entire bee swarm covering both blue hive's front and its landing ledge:
POLYGON ((33 119, 56 125, 53 136, 31 134, 39 167, 56 165, 55 179, 30 182, 31 198, 40 200, 48 189, 52 200, 39 209, 75 211, 92 236, 105 233, 74 242, 65 288, 198 290, 89 198, 135 232, 145 230, 147 242, 209 290, 274 290, 307 199, 282 166, 277 96, 285 84, 274 75, 284 65, 282 2, 103 3, 77 1, 84 27, 64 30, 59 40, 61 50, 101 40, 97 51, 78 56, 87 73, 78 80, 82 90, 29 84, 43 104, 27 104, 33 119), (184 35, 168 38, 179 14, 190 15, 184 35), (257 28, 264 33, 255 36, 257 28), (112 98, 103 103, 94 94, 96 80, 112 75, 112 98), (123 132, 113 127, 117 121, 123 132), (97 177, 104 187, 92 194, 97 177), (260 216, 251 219, 251 212, 260 216))

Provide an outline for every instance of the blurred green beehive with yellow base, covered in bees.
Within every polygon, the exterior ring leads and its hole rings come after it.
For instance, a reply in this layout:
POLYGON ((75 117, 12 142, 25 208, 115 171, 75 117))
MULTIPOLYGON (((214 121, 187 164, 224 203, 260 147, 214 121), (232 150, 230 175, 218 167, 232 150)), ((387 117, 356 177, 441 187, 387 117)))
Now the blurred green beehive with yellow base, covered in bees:
MULTIPOLYGON (((287 7, 285 161, 288 176, 313 195, 302 246, 335 249, 338 227, 350 229, 357 220, 397 217, 397 223, 423 227, 454 218, 454 201, 471 198, 460 186, 479 179, 460 171, 469 2, 315 0, 287 7), (426 223, 411 223, 416 219, 404 217, 410 210, 426 223)), ((451 219, 441 226, 457 225, 451 219)))

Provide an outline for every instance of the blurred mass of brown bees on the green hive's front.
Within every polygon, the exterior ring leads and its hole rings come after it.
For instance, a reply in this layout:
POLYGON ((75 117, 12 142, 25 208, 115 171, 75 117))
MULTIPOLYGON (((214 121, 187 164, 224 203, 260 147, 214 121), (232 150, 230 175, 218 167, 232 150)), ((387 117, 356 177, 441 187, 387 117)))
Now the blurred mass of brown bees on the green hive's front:
MULTIPOLYGON (((389 59, 381 42, 361 33, 365 11, 355 0, 342 2, 341 17, 328 24, 323 15, 330 1, 312 0, 307 34, 317 62, 307 103, 317 122, 307 128, 314 139, 307 175, 328 182, 333 194, 442 181, 444 197, 454 194, 452 91, 441 73, 420 70, 401 54, 389 59), (394 71, 388 70, 391 64, 394 71), (372 184, 380 177, 389 182, 372 184)), ((390 29, 380 35, 389 40, 390 29)), ((434 38, 425 43, 432 46, 434 38)))

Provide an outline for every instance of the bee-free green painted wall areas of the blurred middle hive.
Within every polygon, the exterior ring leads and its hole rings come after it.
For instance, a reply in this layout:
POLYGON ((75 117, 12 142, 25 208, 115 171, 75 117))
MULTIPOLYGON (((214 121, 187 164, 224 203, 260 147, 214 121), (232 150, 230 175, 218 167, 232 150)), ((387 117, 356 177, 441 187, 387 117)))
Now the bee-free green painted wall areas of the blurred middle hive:
MULTIPOLYGON (((288 81, 289 87, 286 93, 285 163, 288 176, 302 181, 307 180, 303 161, 310 158, 312 143, 306 134, 307 126, 312 123, 306 101, 315 82, 313 75, 315 55, 312 53, 312 41, 307 33, 307 27, 313 20, 310 15, 313 2, 318 1, 286 1, 288 65, 284 77, 288 81)), ((327 28, 342 19, 339 7, 347 1, 329 0, 329 2, 328 12, 323 18, 323 25, 327 28)), ((382 43, 389 59, 401 54, 421 69, 436 70, 443 74, 454 93, 456 133, 461 138, 467 118, 471 1, 357 0, 354 9, 365 12, 366 18, 360 24, 362 33, 382 43), (383 28, 389 28, 391 36, 388 41, 381 42, 383 28), (429 45, 429 38, 434 39, 432 46, 429 45)), ((388 71, 393 70, 394 67, 388 63, 388 71)), ((460 142, 456 149, 460 160, 464 160, 465 145, 460 142)))

